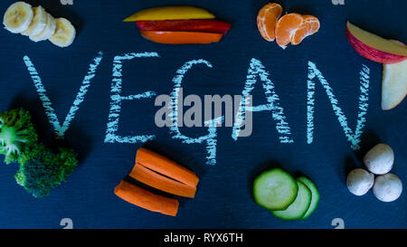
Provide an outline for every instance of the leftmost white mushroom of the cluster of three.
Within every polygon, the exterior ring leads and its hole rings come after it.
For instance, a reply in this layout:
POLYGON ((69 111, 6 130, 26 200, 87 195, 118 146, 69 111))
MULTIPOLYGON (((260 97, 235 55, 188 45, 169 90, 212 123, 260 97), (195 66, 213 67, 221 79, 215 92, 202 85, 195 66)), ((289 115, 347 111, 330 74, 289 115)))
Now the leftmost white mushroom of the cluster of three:
POLYGON ((347 176, 346 185, 352 194, 364 195, 374 185, 374 175, 364 169, 355 169, 347 176))

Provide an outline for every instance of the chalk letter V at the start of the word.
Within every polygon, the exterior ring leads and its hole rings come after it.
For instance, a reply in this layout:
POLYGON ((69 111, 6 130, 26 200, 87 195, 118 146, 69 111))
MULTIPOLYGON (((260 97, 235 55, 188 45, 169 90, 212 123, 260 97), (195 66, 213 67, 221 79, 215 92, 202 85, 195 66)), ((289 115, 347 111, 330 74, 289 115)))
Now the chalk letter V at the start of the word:
POLYGON ((58 120, 55 110, 52 108, 52 102, 47 96, 47 91, 43 86, 43 81, 41 80, 40 75, 33 66, 28 56, 24 56, 25 66, 27 66, 28 71, 30 72, 31 78, 33 79, 34 86, 40 96, 40 100, 43 101, 43 108, 45 109, 45 114, 48 117, 48 120, 53 126, 56 138, 63 138, 65 131, 70 127, 71 120, 75 118, 75 113, 79 109, 80 103, 84 100, 88 88, 90 87, 90 81, 95 77, 95 72, 99 67, 99 63, 102 60, 103 52, 98 52, 98 55, 93 59, 93 62, 90 63, 88 74, 82 81, 80 90, 76 95, 76 99, 73 101, 71 109, 66 115, 65 120, 62 123, 58 120))

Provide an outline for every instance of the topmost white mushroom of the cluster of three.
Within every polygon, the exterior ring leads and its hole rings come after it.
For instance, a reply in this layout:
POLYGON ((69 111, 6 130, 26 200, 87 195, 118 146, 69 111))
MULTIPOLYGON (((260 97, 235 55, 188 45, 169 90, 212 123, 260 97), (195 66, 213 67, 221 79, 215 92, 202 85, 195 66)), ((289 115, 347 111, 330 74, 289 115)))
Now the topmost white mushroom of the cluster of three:
POLYGON ((394 153, 392 147, 383 143, 376 145, 364 156, 364 165, 376 174, 383 175, 393 168, 394 153))

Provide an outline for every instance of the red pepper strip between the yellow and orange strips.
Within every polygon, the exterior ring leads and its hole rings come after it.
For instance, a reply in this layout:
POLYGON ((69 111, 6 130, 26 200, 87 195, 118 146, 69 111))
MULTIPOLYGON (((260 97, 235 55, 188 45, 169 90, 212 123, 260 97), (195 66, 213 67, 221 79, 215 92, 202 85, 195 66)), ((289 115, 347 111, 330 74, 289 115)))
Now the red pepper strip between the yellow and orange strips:
POLYGON ((140 31, 189 31, 225 34, 231 29, 231 24, 221 20, 165 20, 138 21, 140 31))

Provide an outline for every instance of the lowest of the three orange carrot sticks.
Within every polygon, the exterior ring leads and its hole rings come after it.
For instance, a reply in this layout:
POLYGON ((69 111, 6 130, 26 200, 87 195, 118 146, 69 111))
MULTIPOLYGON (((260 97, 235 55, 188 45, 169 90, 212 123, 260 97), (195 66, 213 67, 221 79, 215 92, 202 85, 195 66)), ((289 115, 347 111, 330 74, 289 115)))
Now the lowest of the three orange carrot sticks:
POLYGON ((149 211, 175 216, 178 212, 178 200, 152 194, 136 185, 121 181, 115 188, 115 194, 130 204, 149 211))

